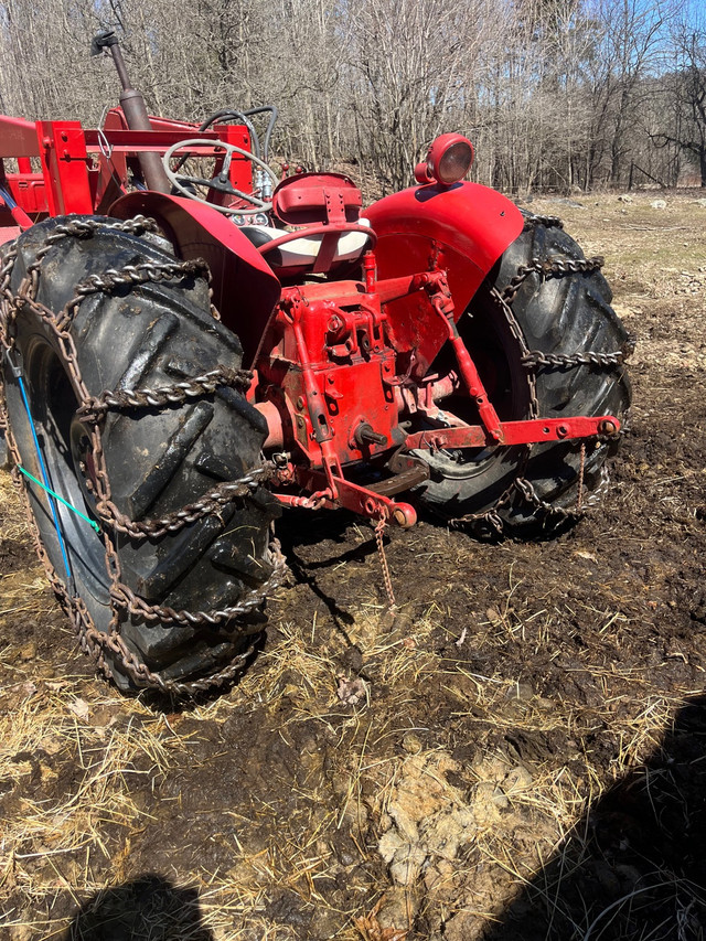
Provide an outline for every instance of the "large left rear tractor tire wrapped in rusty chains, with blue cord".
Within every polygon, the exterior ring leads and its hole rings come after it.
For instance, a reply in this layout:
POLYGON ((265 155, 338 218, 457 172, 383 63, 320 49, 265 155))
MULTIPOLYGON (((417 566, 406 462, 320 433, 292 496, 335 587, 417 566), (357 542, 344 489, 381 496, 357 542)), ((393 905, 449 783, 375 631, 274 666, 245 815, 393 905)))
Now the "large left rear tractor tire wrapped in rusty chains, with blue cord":
POLYGON ((240 344, 150 228, 71 216, 3 249, 3 409, 82 646, 120 688, 189 695, 242 672, 284 563, 240 344))

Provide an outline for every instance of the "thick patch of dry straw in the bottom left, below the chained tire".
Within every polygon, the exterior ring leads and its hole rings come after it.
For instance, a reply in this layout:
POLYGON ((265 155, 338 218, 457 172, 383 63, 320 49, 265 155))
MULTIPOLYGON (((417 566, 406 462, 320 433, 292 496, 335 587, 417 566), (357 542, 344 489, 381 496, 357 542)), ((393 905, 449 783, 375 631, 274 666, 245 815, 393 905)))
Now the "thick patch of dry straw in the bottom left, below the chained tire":
MULTIPOLYGON (((159 780, 184 747, 139 704, 120 727, 125 702, 103 688, 88 705, 85 685, 68 675, 3 688, 0 768, 17 799, 2 820, 0 887, 40 908, 61 890, 99 889, 106 868, 121 881, 130 835, 150 819, 131 796, 133 781, 159 780)), ((6 910, 7 927, 24 922, 17 908, 6 910)))

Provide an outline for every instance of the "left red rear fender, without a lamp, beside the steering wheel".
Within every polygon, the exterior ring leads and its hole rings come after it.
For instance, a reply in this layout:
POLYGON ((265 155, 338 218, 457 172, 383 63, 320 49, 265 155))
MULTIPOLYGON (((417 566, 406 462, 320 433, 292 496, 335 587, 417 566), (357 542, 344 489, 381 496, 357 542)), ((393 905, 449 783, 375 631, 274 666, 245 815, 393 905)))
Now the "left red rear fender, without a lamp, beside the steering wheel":
POLYGON ((180 258, 203 258, 211 269, 211 288, 224 325, 237 333, 243 364, 250 366, 280 284, 252 242, 211 206, 181 196, 145 190, 117 200, 109 215, 153 218, 180 258))

